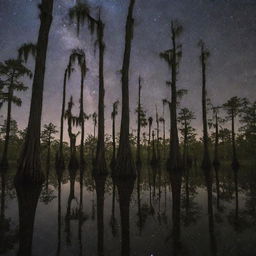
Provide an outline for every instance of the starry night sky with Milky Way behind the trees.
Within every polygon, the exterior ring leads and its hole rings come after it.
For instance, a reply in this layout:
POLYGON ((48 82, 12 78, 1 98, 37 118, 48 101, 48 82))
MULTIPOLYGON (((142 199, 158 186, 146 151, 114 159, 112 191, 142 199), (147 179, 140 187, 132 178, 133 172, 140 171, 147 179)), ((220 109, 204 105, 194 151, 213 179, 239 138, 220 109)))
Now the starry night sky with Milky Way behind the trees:
MULTIPOLYGON (((0 61, 16 58, 17 49, 25 42, 36 42, 39 29, 39 0, 0 0, 0 61)), ((97 110, 98 57, 94 54, 95 37, 87 26, 78 37, 75 24, 68 18, 68 9, 75 0, 55 0, 54 19, 49 36, 42 124, 53 122, 59 127, 64 69, 73 48, 86 52, 89 72, 85 81, 85 112, 97 110)), ((111 133, 112 103, 121 99, 121 76, 124 51, 124 27, 128 0, 88 0, 92 14, 101 7, 105 27, 105 124, 111 133)), ((189 93, 181 102, 195 112, 193 125, 201 128, 201 73, 199 48, 203 39, 211 56, 207 67, 208 97, 214 105, 238 95, 255 100, 256 96, 256 1, 255 0, 136 0, 135 27, 130 68, 131 129, 135 128, 138 76, 143 78, 142 105, 147 115, 155 117, 155 104, 162 112, 162 99, 170 97, 165 81, 171 79, 166 63, 159 58, 161 51, 171 47, 170 22, 177 19, 184 31, 180 37, 183 57, 178 75, 178 88, 189 93)), ((27 66, 33 70, 34 61, 27 66)), ((24 79, 31 89, 31 80, 24 79)), ((74 114, 78 113, 80 74, 75 72, 67 85, 67 96, 75 100, 74 114)), ((19 128, 28 121, 31 90, 19 94, 20 108, 13 108, 13 118, 19 128)), ((2 108, 0 122, 5 119, 2 108)), ((166 108, 166 120, 169 114, 166 108)), ((120 120, 120 114, 119 119, 120 120)), ((92 133, 92 120, 86 122, 87 133, 92 133)), ((67 134, 65 136, 67 139, 67 134)))

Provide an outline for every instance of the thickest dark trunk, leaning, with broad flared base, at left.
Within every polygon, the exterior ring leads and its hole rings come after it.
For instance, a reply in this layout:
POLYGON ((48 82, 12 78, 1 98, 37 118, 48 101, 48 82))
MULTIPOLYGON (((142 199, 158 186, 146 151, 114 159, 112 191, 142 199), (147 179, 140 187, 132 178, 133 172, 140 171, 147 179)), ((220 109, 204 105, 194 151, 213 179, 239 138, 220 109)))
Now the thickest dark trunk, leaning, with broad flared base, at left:
POLYGON ((16 178, 42 183, 40 163, 40 130, 43 105, 45 62, 48 36, 52 23, 53 0, 42 0, 40 5, 40 30, 37 41, 37 55, 32 86, 32 98, 28 130, 16 178))

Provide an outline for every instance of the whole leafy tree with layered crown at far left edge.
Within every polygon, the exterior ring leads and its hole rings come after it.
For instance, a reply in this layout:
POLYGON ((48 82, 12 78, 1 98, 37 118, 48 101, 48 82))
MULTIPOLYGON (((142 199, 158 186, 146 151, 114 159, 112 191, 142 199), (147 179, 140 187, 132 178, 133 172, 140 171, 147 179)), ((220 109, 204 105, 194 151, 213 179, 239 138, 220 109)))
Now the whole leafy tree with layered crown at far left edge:
POLYGON ((21 98, 14 95, 16 91, 26 91, 27 86, 24 85, 20 79, 24 76, 32 78, 32 73, 23 65, 22 60, 10 59, 4 63, 0 62, 0 77, 3 83, 3 88, 6 89, 5 97, 2 99, 3 103, 7 103, 7 117, 6 117, 6 135, 4 142, 4 150, 1 160, 1 167, 8 168, 8 147, 10 139, 10 126, 11 126, 11 112, 12 104, 21 106, 21 98))

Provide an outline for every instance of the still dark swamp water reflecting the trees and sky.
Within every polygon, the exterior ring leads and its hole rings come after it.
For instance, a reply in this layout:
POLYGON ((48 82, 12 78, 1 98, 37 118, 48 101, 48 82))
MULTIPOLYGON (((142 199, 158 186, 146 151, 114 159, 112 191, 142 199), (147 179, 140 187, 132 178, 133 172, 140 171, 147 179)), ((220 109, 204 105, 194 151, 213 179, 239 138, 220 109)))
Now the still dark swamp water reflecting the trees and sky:
POLYGON ((52 170, 37 205, 33 190, 23 196, 20 217, 13 177, 2 175, 0 254, 17 255, 21 246, 38 256, 256 255, 255 170, 212 175, 206 182, 191 169, 176 193, 163 168, 115 186, 111 177, 95 182, 90 170, 61 180, 52 170))

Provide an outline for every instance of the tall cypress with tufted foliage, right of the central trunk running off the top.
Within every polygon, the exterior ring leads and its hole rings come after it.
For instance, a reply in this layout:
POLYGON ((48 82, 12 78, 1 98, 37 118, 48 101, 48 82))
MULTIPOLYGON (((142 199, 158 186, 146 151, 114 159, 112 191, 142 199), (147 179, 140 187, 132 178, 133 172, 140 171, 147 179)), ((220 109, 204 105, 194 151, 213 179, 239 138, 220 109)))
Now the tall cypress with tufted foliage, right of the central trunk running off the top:
MULTIPOLYGON (((170 154, 169 154, 169 169, 178 170, 181 167, 180 151, 179 151, 179 137, 177 128, 177 74, 179 63, 182 56, 182 45, 177 43, 177 39, 182 33, 182 26, 175 21, 171 22, 171 39, 172 48, 160 53, 168 67, 171 69, 172 80, 171 85, 171 141, 170 141, 170 154)), ((168 82, 167 82, 168 84, 168 82)))

